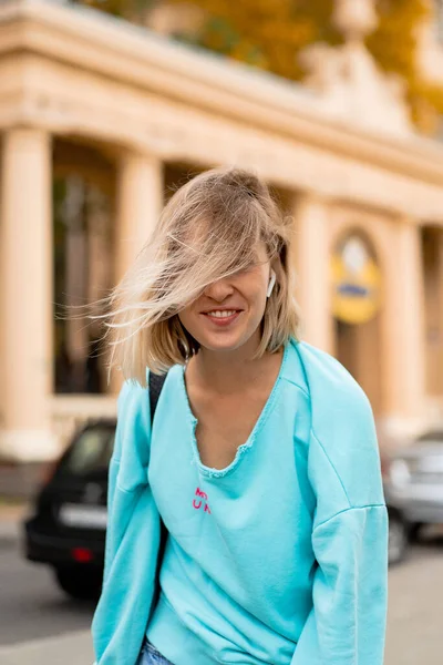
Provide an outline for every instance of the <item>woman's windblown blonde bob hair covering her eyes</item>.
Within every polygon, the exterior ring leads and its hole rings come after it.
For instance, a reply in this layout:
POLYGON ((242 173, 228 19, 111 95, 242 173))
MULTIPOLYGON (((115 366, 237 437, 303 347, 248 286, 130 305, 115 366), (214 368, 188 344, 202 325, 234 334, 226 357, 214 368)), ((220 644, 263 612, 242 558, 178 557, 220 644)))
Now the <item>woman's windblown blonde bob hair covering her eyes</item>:
POLYGON ((169 200, 134 265, 112 293, 105 315, 111 367, 146 385, 198 351, 178 313, 212 283, 257 263, 265 243, 277 283, 267 301, 257 357, 297 337, 298 307, 289 265, 291 224, 257 176, 238 168, 207 171, 169 200))

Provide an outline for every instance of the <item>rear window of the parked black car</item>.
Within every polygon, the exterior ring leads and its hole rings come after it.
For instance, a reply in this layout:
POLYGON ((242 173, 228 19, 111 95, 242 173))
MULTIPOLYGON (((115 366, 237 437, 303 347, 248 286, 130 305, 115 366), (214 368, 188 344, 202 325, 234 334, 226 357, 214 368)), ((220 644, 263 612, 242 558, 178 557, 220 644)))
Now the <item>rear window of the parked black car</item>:
POLYGON ((85 429, 63 459, 62 470, 74 475, 106 471, 114 447, 114 437, 115 429, 110 426, 85 429))

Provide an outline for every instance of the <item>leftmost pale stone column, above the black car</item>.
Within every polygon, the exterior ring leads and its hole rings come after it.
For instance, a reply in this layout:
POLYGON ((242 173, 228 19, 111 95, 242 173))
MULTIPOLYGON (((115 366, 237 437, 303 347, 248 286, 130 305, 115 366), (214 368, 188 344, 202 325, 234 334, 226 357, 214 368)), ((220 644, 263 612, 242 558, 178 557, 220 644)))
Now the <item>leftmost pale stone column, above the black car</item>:
POLYGON ((0 456, 38 461, 56 453, 51 434, 51 137, 31 129, 3 139, 0 225, 0 456))

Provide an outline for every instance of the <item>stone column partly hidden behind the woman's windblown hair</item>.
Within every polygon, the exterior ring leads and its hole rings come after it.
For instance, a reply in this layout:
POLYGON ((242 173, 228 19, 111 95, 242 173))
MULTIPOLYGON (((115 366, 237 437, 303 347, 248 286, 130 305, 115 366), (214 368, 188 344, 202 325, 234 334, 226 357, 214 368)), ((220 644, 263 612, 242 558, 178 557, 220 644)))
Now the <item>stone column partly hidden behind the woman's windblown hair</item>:
MULTIPOLYGON (((120 282, 157 224, 164 201, 163 164, 153 155, 126 153, 121 161, 117 184, 115 233, 115 283, 120 282)), ((110 392, 120 390, 117 371, 110 392)))

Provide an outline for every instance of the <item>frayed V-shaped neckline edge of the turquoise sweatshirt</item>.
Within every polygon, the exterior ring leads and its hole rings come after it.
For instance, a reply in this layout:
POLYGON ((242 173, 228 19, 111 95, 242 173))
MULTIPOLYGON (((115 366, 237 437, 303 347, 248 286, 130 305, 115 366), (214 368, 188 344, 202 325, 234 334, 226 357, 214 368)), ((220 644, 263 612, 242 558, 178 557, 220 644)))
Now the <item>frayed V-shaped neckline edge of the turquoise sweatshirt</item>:
POLYGON ((235 454, 234 460, 230 462, 230 464, 228 464, 224 469, 215 469, 213 467, 207 467, 206 464, 204 464, 202 462, 199 451, 198 451, 197 437, 196 437, 196 429, 197 429, 198 420, 193 413, 193 410, 190 408, 189 398, 187 395, 186 379, 185 379, 186 366, 185 365, 182 366, 181 372, 179 372, 181 374, 181 388, 182 388, 182 392, 183 392, 183 397, 184 397, 184 401, 185 401, 186 415, 187 415, 187 420, 188 420, 189 430, 190 430, 190 444, 192 444, 192 450, 193 450, 193 459, 194 459, 194 463, 199 469, 199 471, 203 475, 206 475, 207 478, 224 478, 224 477, 228 475, 229 473, 235 471, 235 469, 237 469, 237 467, 239 466, 245 453, 253 448, 258 433, 264 428, 264 426, 276 403, 281 378, 282 378, 282 376, 285 374, 285 369, 286 369, 286 364, 287 364, 287 359, 288 359, 288 355, 289 355, 289 348, 290 348, 290 341, 288 341, 285 345, 284 355, 281 358, 281 365, 280 365, 280 369, 279 369, 277 379, 272 386, 272 389, 269 393, 268 399, 266 400, 264 408, 261 409, 261 412, 260 412, 258 419, 256 420, 253 431, 250 432, 246 442, 241 443, 237 448, 237 452, 235 454))

